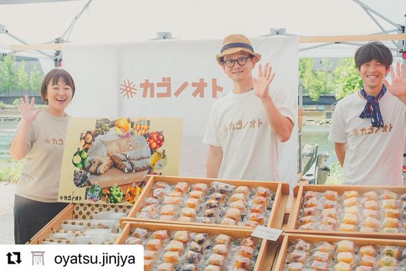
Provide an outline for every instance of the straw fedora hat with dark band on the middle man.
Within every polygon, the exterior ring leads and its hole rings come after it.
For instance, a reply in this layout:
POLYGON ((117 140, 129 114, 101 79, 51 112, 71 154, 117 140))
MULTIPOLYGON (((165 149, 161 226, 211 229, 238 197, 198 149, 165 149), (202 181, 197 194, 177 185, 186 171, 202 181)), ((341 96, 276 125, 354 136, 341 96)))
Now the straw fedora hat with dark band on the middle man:
POLYGON ((244 35, 232 34, 228 35, 223 40, 223 47, 221 47, 220 54, 216 56, 218 64, 221 64, 221 58, 225 55, 234 54, 238 51, 245 51, 252 56, 261 60, 261 55, 253 52, 253 48, 249 39, 244 35))

